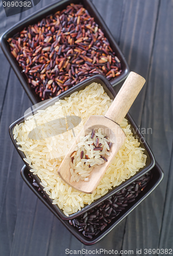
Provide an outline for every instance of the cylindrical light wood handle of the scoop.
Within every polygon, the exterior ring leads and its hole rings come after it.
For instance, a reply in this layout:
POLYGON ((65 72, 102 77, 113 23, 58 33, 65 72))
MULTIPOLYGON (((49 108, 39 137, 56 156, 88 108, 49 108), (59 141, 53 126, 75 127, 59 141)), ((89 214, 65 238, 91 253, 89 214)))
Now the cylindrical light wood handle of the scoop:
POLYGON ((105 117, 120 124, 141 91, 144 83, 145 79, 142 76, 135 72, 129 73, 109 110, 107 110, 105 117))

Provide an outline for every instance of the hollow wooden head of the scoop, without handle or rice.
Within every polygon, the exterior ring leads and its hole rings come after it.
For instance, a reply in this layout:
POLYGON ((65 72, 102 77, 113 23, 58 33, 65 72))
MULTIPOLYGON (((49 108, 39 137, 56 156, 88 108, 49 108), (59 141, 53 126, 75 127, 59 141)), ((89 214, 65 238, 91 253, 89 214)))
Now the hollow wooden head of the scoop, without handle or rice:
MULTIPOLYGON (((115 123, 114 121, 104 117, 93 115, 90 116, 87 122, 84 124, 83 129, 76 137, 72 147, 70 148, 67 156, 63 159, 59 169, 58 174, 61 179, 72 186, 73 188, 86 193, 92 194, 105 174, 107 168, 118 153, 120 147, 122 146, 126 136, 124 131, 121 129, 120 125, 115 123), (101 129, 102 134, 106 134, 107 137, 111 139, 113 142, 112 147, 110 148, 110 156, 107 156, 107 162, 99 165, 98 167, 94 167, 92 172, 90 173, 89 181, 79 180, 71 182, 71 173, 67 172, 71 168, 70 162, 72 162, 71 154, 78 148, 77 144, 79 143, 80 136, 86 136, 92 130, 101 129)), ((79 148, 78 148, 79 149, 79 148)))

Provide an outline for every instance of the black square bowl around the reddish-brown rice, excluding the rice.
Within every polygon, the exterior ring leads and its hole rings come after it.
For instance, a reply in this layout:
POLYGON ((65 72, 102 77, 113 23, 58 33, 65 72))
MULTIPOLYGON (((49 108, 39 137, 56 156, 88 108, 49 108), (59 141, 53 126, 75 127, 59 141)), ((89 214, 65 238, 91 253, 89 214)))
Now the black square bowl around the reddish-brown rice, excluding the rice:
MULTIPOLYGON (((90 0, 63 0, 58 3, 54 3, 51 5, 48 5, 41 10, 35 12, 34 14, 28 16, 27 18, 21 20, 17 24, 15 24, 12 28, 8 29, 0 38, 0 45, 2 47, 2 50, 4 54, 6 55, 8 61, 10 62, 15 74, 17 75, 21 85, 25 89, 28 97, 30 98, 31 102, 33 104, 36 104, 40 102, 40 98, 35 94, 34 89, 31 89, 28 83, 28 79, 26 75, 21 72, 22 68, 19 67, 18 62, 14 58, 14 56, 11 54, 9 43, 7 42, 9 37, 14 36, 18 31, 22 31, 25 27, 28 27, 29 25, 35 24, 42 18, 46 17, 47 15, 50 15, 52 13, 55 13, 59 10, 63 10, 66 8, 69 4, 82 4, 85 9, 87 9, 92 17, 94 17, 95 22, 99 25, 99 28, 104 32, 105 36, 110 42, 110 46, 112 47, 113 51, 115 52, 116 56, 119 58, 122 66, 122 72, 119 76, 114 78, 111 83, 113 86, 116 86, 119 82, 121 82, 123 79, 125 79, 129 73, 129 68, 127 65, 127 62, 120 51, 114 37, 112 36, 110 30, 105 25, 103 19, 101 18, 100 14, 98 13, 95 6, 91 3, 90 0)), ((63 95, 63 93, 62 93, 63 95)))

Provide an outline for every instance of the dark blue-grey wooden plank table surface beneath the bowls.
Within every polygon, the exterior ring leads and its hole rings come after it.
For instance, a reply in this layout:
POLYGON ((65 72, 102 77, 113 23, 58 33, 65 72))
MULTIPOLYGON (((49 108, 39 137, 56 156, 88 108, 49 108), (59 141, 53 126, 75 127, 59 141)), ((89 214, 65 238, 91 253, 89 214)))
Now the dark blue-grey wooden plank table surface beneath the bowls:
MULTIPOLYGON (((20 177, 23 161, 10 140, 8 127, 23 116, 31 102, 0 49, 1 256, 61 256, 66 255, 66 248, 134 250, 134 255, 136 249, 142 249, 145 255, 145 248, 173 247, 173 2, 93 0, 93 3, 118 42, 130 69, 147 80, 130 112, 141 129, 152 128, 152 134, 149 132, 145 137, 164 170, 164 180, 103 240, 93 246, 81 244, 20 177)), ((47 4, 46 0, 41 0, 26 12, 6 17, 0 2, 0 34, 47 4)), ((118 88, 120 86, 116 90, 118 88)))

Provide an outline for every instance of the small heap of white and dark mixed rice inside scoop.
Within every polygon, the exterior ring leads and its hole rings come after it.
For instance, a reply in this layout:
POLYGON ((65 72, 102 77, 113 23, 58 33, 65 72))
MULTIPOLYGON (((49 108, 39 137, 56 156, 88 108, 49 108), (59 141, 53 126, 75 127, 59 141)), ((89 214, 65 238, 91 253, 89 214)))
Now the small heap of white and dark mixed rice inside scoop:
MULTIPOLYGON (((110 139, 106 134, 93 129, 86 136, 80 136, 75 151, 72 153, 72 162, 70 162, 71 179, 70 182, 79 182, 79 180, 88 181, 93 168, 107 162, 106 157, 110 156, 110 139)), ((112 144, 112 142, 111 142, 112 144)))

